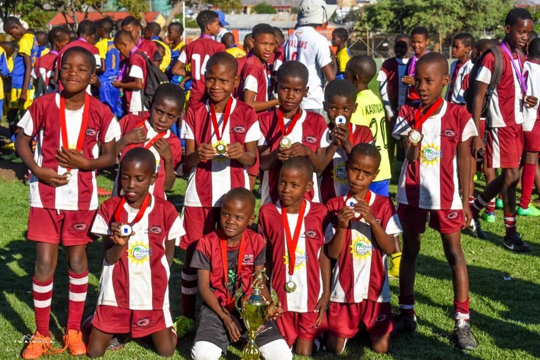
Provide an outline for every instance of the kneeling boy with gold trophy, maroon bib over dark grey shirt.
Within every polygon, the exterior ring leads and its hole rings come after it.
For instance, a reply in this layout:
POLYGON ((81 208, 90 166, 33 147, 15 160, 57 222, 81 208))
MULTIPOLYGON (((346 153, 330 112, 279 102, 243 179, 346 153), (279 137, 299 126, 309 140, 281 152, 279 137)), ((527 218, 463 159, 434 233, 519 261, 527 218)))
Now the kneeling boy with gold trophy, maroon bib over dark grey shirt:
MULTIPOLYGON (((231 55, 230 55, 231 56, 231 55)), ((203 305, 191 356, 195 360, 218 360, 227 354, 227 345, 237 342, 245 331, 240 314, 234 308, 235 296, 252 291, 253 274, 265 268, 266 246, 262 236, 249 230, 255 220, 255 196, 237 187, 225 194, 220 212, 221 228, 197 242, 191 266, 197 268, 203 305)), ((269 300, 265 286, 262 294, 269 300)), ((279 333, 274 320, 283 313, 281 305, 272 309, 257 336, 261 355, 267 360, 291 360, 293 355, 279 333)))

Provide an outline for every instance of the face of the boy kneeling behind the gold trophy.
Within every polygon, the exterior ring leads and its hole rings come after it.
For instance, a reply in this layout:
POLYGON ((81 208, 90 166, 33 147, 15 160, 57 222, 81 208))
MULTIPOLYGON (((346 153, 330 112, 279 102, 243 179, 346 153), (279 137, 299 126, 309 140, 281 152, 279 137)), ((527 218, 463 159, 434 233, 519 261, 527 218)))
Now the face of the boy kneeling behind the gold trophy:
POLYGON ((225 198, 221 203, 219 223, 227 239, 241 236, 254 220, 253 206, 249 206, 246 201, 225 198))

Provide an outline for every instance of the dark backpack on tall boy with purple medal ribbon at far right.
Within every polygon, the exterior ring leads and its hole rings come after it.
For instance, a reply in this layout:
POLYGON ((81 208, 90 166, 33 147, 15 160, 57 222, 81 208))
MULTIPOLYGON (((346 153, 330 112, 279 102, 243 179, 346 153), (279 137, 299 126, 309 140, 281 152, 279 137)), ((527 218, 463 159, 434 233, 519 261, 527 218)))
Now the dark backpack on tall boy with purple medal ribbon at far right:
POLYGON ((503 74, 503 53, 500 46, 494 46, 490 49, 484 51, 480 59, 477 59, 473 69, 470 72, 469 88, 463 93, 463 99, 467 104, 467 111, 473 113, 473 102, 474 97, 478 89, 478 80, 476 80, 476 75, 481 69, 482 59, 488 54, 492 53, 495 57, 495 66, 491 72, 491 79, 489 80, 488 89, 485 91, 484 101, 482 103, 482 114, 481 117, 486 118, 488 116, 488 106, 491 101, 491 97, 497 89, 497 85, 501 82, 501 76, 503 74))

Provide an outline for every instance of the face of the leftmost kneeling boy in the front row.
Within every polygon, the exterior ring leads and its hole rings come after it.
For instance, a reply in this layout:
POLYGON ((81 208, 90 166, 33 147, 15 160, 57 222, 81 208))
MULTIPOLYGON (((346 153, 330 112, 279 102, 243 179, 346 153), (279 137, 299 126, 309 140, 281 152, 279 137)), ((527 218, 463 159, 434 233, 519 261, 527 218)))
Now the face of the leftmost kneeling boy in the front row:
POLYGON ((143 201, 158 178, 158 174, 143 161, 122 162, 120 170, 120 182, 128 203, 143 201))

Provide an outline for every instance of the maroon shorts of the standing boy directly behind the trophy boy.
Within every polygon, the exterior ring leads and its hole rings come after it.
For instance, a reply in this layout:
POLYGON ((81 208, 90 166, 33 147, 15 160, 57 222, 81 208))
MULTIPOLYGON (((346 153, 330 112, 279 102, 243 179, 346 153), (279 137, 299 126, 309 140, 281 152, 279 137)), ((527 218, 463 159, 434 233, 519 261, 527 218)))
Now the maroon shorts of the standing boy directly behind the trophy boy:
POLYGON ((186 234, 180 239, 180 247, 187 249, 201 236, 213 232, 219 227, 220 216, 221 207, 184 206, 181 220, 186 234))

